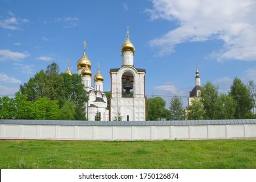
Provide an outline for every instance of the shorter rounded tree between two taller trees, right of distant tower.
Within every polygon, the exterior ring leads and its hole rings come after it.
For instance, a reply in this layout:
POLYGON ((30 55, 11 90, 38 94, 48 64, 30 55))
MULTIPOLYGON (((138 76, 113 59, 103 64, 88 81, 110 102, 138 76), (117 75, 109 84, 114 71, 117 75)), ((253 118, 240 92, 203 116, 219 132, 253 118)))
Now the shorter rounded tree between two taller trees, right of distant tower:
POLYGON ((215 103, 215 120, 235 118, 236 101, 226 94, 221 94, 215 103))

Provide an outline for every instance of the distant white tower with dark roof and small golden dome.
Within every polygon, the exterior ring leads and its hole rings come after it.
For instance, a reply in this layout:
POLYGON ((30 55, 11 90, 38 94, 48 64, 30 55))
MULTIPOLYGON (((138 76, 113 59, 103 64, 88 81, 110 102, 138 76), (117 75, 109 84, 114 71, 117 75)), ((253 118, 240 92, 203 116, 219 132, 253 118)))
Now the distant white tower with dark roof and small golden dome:
POLYGON ((200 99, 201 97, 201 79, 199 77, 199 71, 196 66, 195 69, 195 87, 192 89, 192 91, 189 93, 190 96, 188 98, 188 105, 192 104, 193 99, 200 99))

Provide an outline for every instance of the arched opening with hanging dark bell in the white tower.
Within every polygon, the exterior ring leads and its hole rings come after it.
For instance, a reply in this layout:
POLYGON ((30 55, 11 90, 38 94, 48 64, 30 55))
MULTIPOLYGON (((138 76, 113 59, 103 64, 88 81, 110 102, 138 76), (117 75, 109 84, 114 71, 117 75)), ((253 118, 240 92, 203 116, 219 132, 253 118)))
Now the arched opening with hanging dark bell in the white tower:
POLYGON ((134 75, 131 72, 124 72, 122 75, 122 98, 134 97, 134 75))

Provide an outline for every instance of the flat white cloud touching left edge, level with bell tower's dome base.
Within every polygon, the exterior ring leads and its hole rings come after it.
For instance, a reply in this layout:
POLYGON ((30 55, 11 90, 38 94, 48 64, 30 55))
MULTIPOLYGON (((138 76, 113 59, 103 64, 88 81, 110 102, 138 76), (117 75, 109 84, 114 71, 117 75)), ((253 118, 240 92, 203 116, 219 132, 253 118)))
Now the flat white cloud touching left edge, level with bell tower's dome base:
POLYGON ((0 49, 0 60, 21 60, 29 57, 29 53, 13 52, 8 49, 0 49))

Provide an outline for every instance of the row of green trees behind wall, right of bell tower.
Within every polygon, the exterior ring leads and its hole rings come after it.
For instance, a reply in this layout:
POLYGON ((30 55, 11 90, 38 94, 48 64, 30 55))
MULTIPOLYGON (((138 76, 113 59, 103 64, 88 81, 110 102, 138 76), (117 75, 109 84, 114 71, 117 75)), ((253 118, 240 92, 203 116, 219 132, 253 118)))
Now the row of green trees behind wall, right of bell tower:
POLYGON ((147 120, 227 120, 255 118, 256 85, 247 85, 237 77, 227 94, 220 94, 218 87, 207 82, 201 86, 201 97, 183 107, 180 97, 173 96, 169 109, 160 97, 147 99, 147 120))

